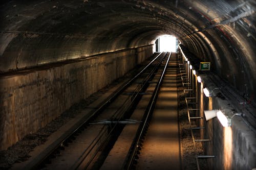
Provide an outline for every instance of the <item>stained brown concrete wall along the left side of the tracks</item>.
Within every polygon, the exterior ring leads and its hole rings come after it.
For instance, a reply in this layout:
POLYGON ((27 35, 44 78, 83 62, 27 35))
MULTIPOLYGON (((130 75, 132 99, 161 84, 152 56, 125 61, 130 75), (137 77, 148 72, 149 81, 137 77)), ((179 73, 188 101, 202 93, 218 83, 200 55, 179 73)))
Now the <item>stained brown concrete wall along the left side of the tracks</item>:
POLYGON ((0 150, 45 127, 152 54, 153 45, 147 45, 0 75, 0 150))

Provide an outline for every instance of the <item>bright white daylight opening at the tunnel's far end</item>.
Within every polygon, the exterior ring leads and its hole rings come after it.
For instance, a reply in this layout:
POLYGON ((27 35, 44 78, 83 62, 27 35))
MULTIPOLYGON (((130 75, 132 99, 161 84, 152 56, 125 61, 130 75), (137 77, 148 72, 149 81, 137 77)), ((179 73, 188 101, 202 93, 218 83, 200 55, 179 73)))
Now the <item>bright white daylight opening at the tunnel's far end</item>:
POLYGON ((177 39, 172 35, 162 35, 156 40, 157 52, 176 52, 177 39))

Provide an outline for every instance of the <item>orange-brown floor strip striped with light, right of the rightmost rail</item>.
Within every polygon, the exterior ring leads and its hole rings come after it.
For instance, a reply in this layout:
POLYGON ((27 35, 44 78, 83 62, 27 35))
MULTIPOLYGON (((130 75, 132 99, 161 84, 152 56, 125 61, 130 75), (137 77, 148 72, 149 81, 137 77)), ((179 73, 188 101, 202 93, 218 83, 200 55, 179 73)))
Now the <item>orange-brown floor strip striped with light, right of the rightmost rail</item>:
POLYGON ((175 56, 172 53, 170 57, 137 169, 180 169, 175 56))

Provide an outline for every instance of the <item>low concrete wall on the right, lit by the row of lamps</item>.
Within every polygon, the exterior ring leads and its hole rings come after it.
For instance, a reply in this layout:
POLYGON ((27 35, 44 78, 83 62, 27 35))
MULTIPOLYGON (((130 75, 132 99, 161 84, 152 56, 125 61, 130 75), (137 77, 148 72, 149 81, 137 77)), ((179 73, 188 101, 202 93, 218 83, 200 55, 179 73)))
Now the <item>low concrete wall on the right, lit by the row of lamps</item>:
MULTIPOLYGON (((182 53, 178 53, 178 56, 185 56, 188 60, 193 61, 191 54, 183 47, 179 46, 182 53), (182 54, 182 55, 181 55, 182 54)), ((185 67, 188 68, 188 64, 184 58, 185 67)), ((194 67, 194 63, 192 65, 194 67)), ((204 156, 210 156, 207 159, 207 169, 253 169, 256 167, 256 134, 253 120, 250 122, 248 111, 251 109, 248 106, 239 104, 241 101, 240 96, 236 94, 234 88, 226 87, 221 88, 223 80, 212 71, 196 72, 196 75, 192 74, 192 69, 187 69, 189 78, 191 76, 190 83, 191 89, 197 94, 191 95, 196 97, 197 104, 189 105, 191 109, 199 109, 198 111, 189 111, 190 116, 202 117, 196 120, 197 129, 194 131, 200 131, 200 137, 195 139, 206 139, 209 141, 202 142, 204 148, 204 156), (198 76, 201 77, 201 83, 197 81, 198 76), (206 97, 204 94, 204 88, 210 90, 211 95, 206 97), (230 95, 226 95, 227 91, 230 95), (231 95, 235 94, 235 95, 231 95), (234 99, 236 98, 236 99, 234 99), (223 127, 219 118, 215 118, 214 114, 206 116, 205 110, 221 110, 225 116, 231 118, 231 126, 223 127), (236 113, 243 113, 243 116, 236 116, 236 113), (212 116, 212 117, 211 117, 212 116), (206 120, 206 117, 211 119, 206 120), (214 156, 214 158, 212 158, 214 156)), ((187 97, 190 96, 187 94, 187 97)), ((189 102, 189 101, 188 101, 189 102)), ((255 108, 254 108, 255 110, 255 108)), ((254 111, 251 110, 252 113, 254 111)), ((191 140, 191 142, 193 142, 191 140)), ((201 162, 201 159, 198 158, 201 162)))

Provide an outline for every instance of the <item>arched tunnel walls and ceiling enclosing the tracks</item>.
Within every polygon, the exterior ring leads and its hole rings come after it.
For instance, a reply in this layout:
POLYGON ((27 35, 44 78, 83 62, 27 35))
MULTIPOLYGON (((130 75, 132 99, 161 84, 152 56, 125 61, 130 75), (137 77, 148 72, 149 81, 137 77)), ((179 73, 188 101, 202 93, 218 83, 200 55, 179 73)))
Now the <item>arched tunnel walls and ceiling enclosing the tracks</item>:
POLYGON ((205 158, 209 169, 255 168, 255 7, 253 0, 2 1, 1 159, 143 65, 167 34, 178 40, 177 75, 184 87, 191 85, 184 99, 196 100, 186 112, 198 109, 204 155, 197 160, 205 158), (210 62, 210 70, 202 62, 210 62))

